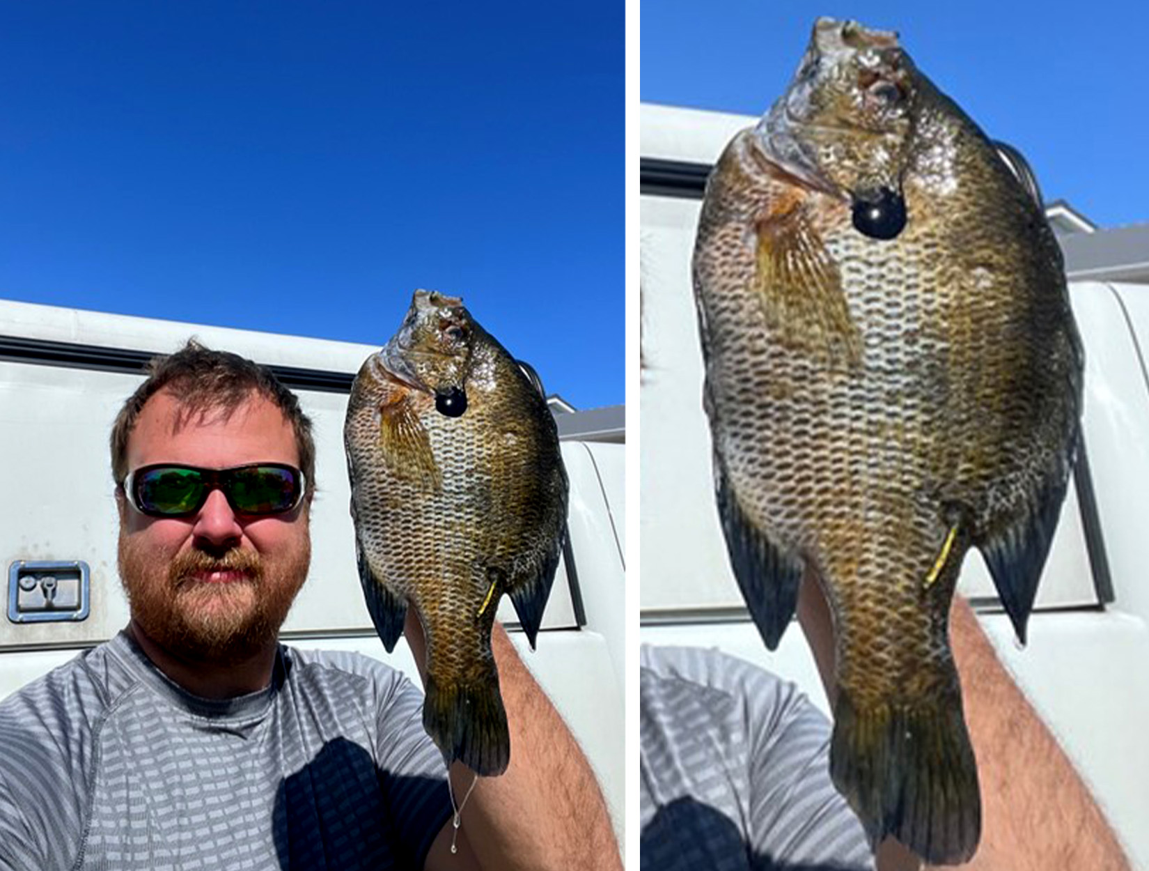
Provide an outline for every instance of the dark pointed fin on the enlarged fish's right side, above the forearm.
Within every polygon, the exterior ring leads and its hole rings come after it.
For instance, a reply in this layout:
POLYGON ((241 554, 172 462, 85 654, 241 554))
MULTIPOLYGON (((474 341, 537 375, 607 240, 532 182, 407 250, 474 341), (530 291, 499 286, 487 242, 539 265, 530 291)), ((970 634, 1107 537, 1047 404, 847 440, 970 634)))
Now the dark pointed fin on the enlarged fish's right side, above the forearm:
MULTIPOLYGON (((1067 452, 1070 457, 1074 454, 1075 449, 1067 452)), ((977 541, 994 586, 997 587, 997 595, 1001 596, 1018 641, 1023 645, 1033 600, 1038 595, 1038 581, 1046 568, 1072 469, 1071 458, 1047 477, 1043 486, 1028 500, 1024 511, 1010 523, 990 529, 977 541)))

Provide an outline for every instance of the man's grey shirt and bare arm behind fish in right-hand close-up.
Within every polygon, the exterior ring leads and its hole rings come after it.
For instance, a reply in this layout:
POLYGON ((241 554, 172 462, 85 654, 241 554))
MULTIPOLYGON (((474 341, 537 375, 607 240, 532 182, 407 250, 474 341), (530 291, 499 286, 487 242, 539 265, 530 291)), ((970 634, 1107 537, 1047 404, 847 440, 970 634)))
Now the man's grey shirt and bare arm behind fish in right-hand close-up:
MULTIPOLYGON (((797 617, 833 692, 830 609, 812 578, 797 617)), ((956 601, 950 641, 978 758, 976 871, 1128 871, 1109 825, 1056 739, 956 601)), ((645 871, 904 871, 887 840, 874 856, 830 781, 830 723, 792 684, 715 650, 647 648, 640 679, 645 871)))

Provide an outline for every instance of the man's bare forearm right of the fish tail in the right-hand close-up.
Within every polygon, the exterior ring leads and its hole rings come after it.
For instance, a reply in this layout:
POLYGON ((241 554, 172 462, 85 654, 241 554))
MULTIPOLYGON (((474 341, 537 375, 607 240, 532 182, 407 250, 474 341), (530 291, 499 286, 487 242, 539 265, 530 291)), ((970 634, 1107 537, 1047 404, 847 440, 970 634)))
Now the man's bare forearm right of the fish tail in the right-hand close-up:
POLYGON ((966 868, 1126 871, 1097 804, 962 600, 950 643, 981 781, 981 845, 966 868))

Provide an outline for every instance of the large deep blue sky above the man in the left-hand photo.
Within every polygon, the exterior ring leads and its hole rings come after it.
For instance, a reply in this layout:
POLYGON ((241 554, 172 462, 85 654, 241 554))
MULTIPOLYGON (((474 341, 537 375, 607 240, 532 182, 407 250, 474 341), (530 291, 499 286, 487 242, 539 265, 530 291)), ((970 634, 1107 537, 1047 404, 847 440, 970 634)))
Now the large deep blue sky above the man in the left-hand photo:
POLYGON ((0 298, 381 345, 427 287, 623 402, 623 74, 617 0, 3 3, 0 298))

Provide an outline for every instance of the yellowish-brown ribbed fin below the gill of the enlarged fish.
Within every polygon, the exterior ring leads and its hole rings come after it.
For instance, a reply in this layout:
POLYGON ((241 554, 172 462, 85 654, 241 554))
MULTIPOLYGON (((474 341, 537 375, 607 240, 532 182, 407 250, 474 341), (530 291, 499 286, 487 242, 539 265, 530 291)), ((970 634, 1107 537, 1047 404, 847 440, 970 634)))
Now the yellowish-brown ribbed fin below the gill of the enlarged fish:
POLYGON ((808 195, 789 188, 756 222, 762 311, 780 341, 833 365, 857 365, 862 336, 838 264, 810 216, 808 195))

